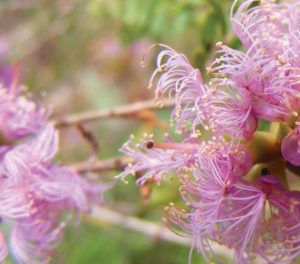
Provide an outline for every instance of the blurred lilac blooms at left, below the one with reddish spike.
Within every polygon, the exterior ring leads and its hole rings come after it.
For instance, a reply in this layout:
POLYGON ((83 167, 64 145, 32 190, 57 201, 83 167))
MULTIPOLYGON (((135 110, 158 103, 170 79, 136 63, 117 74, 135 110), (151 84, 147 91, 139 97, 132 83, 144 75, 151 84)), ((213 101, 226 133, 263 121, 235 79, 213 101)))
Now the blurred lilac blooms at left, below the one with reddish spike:
POLYGON ((47 124, 34 138, 2 153, 0 215, 13 221, 10 249, 18 263, 49 263, 72 212, 87 212, 89 201, 99 202, 109 188, 53 164, 57 144, 57 131, 47 124))

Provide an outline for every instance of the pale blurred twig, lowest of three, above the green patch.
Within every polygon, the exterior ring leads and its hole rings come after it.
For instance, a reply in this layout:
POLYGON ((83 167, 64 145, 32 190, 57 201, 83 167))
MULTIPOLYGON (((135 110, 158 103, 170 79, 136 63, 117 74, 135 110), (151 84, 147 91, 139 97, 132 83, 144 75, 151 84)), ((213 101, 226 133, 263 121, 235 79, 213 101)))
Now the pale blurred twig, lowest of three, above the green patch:
MULTIPOLYGON (((103 222, 110 223, 116 226, 122 226, 137 232, 146 234, 156 240, 172 242, 180 245, 189 246, 191 240, 189 237, 178 236, 171 232, 165 225, 156 224, 150 221, 141 220, 133 216, 126 216, 118 212, 95 206, 92 208, 90 215, 86 217, 89 221, 102 225, 103 222)), ((211 243, 214 252, 217 255, 223 255, 233 259, 233 251, 227 249, 217 243, 211 243)))

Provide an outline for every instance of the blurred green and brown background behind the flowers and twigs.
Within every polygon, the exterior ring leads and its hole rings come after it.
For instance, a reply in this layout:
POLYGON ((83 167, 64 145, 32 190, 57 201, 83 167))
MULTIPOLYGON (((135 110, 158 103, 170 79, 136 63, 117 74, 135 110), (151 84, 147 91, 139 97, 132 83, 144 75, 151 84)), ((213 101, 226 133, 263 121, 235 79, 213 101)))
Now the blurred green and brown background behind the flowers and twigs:
MULTIPOLYGON (((52 107, 52 118, 151 99, 147 90, 155 54, 141 58, 153 43, 185 53, 201 69, 213 59, 215 42, 237 48, 230 31, 231 0, 1 0, 0 70, 20 62, 23 83, 52 107)), ((85 125, 97 139, 97 157, 120 156, 130 134, 154 132, 161 139, 168 110, 142 118, 108 119, 85 125)), ((91 157, 92 149, 75 127, 61 128, 60 155, 66 164, 91 157)), ((99 173, 112 181, 118 171, 99 173)), ((180 201, 178 181, 151 186, 147 193, 129 179, 105 194, 105 207, 162 223, 164 207, 180 201)), ((60 246, 68 264, 187 263, 189 247, 82 216, 68 227, 60 246)), ((226 256, 225 256, 226 257, 226 256)), ((203 263, 193 254, 193 263, 203 263)))

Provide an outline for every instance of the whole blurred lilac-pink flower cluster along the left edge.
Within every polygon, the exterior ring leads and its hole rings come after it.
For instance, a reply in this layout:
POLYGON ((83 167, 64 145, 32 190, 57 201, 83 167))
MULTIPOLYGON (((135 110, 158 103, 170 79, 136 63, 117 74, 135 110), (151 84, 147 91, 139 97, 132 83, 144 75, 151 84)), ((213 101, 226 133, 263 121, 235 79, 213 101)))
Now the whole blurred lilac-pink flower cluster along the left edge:
MULTIPOLYGON (((49 263, 63 229, 88 202, 100 202, 103 185, 81 178, 53 157, 58 132, 49 111, 30 99, 19 85, 18 69, 0 87, 0 219, 11 229, 9 249, 17 263, 49 263)), ((0 233, 0 262, 7 244, 0 233)))

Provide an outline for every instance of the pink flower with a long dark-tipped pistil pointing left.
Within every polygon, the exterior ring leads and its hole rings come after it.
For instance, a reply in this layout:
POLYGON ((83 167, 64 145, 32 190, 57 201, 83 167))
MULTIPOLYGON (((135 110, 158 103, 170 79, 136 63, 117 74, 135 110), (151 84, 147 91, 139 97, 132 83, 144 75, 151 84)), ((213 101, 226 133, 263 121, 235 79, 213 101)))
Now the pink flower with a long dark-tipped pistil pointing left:
POLYGON ((197 163, 197 144, 178 144, 174 142, 153 142, 151 136, 145 135, 141 143, 135 145, 131 137, 120 151, 134 160, 129 163, 118 178, 123 181, 129 174, 136 176, 138 184, 144 184, 147 180, 160 182, 166 180, 168 173, 190 170, 197 163))

